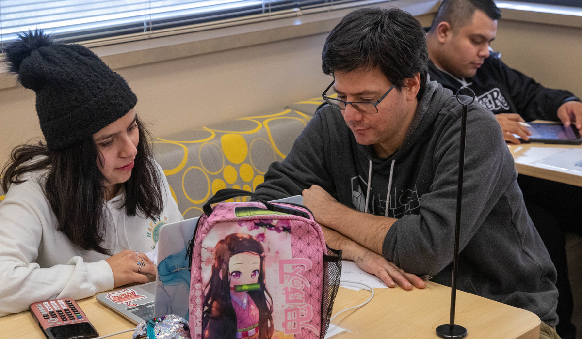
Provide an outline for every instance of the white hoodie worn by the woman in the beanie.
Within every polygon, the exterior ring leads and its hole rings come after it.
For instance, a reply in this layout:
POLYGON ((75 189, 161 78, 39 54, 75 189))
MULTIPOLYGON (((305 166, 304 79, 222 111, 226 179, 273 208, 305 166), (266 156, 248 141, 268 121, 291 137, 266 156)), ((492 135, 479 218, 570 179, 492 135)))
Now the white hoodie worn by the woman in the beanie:
MULTIPOLYGON (((183 220, 161 167, 164 210, 158 220, 129 217, 120 209, 125 191, 107 202, 103 246, 150 252, 166 223, 183 220)), ((56 216, 42 192, 41 172, 12 184, 0 204, 0 316, 25 311, 30 304, 58 298, 87 298, 113 288, 108 255, 77 248, 56 230, 56 216)))

